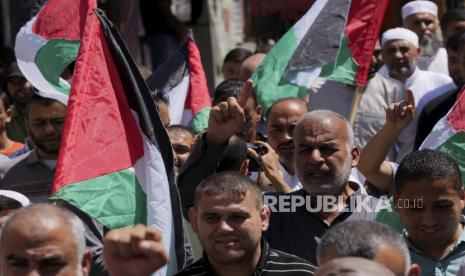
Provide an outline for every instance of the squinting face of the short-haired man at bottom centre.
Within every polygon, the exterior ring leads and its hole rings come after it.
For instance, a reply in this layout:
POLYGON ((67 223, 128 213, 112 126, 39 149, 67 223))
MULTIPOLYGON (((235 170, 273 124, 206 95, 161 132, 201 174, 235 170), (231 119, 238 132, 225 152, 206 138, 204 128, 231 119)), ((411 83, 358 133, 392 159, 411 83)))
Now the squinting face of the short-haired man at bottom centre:
POLYGON ((209 260, 234 265, 253 259, 270 214, 268 208, 257 206, 256 196, 203 195, 191 209, 192 228, 209 260))

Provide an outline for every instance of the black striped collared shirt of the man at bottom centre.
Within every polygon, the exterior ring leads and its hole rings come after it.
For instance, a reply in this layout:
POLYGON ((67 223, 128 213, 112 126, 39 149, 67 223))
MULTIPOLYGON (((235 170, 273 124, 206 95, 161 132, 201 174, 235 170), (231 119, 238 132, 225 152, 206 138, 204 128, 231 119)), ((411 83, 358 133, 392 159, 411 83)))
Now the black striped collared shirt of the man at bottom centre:
MULTIPOLYGON (((261 254, 257 266, 252 275, 313 275, 316 267, 305 260, 291 254, 271 249, 267 242, 261 240, 261 254)), ((177 276, 187 275, 217 275, 208 257, 204 254, 203 258, 184 268, 176 274, 177 276)))

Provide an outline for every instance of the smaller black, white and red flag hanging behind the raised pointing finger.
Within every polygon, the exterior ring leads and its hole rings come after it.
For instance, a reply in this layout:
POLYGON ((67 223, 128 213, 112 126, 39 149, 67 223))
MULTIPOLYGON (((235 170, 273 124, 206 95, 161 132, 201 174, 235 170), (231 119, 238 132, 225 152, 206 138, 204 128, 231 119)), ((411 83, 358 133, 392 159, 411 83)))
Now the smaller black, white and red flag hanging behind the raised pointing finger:
POLYGON ((187 125, 200 110, 211 106, 207 78, 192 32, 186 42, 147 79, 152 91, 168 96, 171 124, 187 125))

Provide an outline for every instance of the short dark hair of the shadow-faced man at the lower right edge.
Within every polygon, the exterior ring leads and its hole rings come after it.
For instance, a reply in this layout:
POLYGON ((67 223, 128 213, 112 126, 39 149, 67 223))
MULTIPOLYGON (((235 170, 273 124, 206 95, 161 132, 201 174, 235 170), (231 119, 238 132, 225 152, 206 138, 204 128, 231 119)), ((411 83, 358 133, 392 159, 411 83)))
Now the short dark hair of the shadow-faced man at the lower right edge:
POLYGON ((422 149, 407 155, 399 165, 394 179, 395 192, 400 193, 406 182, 450 180, 456 191, 462 189, 459 166, 448 154, 422 149))

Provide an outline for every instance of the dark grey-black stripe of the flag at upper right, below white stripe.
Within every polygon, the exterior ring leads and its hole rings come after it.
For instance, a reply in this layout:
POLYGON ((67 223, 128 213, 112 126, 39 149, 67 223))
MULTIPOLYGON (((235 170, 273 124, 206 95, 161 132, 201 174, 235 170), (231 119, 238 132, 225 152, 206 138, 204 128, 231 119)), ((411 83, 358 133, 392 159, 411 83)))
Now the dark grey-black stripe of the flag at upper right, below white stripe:
POLYGON ((287 65, 286 71, 300 71, 333 62, 349 15, 351 0, 328 0, 317 15, 287 65))

